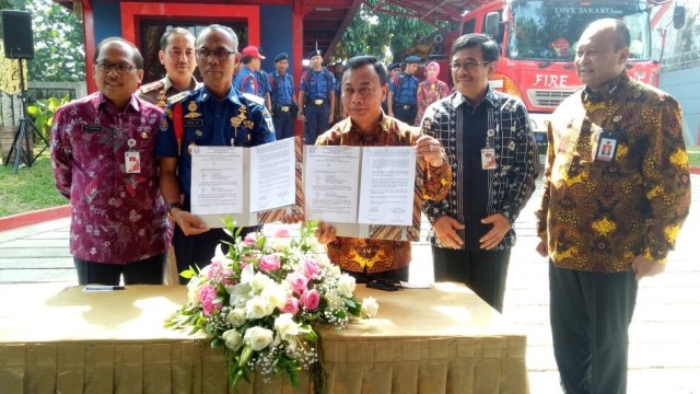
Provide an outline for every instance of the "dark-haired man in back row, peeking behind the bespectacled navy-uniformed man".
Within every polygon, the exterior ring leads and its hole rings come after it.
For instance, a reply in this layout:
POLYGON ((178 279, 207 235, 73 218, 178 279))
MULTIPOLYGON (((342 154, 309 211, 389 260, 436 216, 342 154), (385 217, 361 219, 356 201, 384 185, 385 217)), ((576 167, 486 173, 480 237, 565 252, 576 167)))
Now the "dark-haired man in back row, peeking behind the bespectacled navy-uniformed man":
POLYGON ((192 77, 197 68, 195 36, 187 28, 168 30, 161 37, 161 50, 158 57, 161 65, 165 67, 165 77, 142 85, 137 94, 139 99, 165 108, 168 97, 196 89, 198 85, 192 77))

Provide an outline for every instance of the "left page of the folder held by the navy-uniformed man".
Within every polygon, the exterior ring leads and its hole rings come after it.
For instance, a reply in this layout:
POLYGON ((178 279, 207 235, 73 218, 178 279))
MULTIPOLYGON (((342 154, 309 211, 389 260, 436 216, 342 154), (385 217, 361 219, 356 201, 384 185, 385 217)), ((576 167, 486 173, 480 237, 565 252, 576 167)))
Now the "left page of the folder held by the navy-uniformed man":
POLYGON ((192 149, 192 215, 243 213, 243 148, 192 149))

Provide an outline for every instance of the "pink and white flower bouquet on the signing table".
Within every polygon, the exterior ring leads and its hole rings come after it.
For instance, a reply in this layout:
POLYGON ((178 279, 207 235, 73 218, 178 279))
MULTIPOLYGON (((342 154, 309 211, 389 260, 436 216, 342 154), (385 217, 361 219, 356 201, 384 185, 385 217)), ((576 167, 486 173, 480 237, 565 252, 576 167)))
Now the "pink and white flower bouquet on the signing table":
MULTIPOLYGON (((233 233, 234 223, 226 227, 233 233)), ((220 247, 209 266, 180 274, 189 278, 188 301, 166 326, 205 333, 222 348, 233 387, 250 382, 250 373, 264 381, 288 375, 296 385, 307 369, 315 390, 325 390, 318 328, 343 329, 351 315, 376 315, 376 300, 359 303, 354 278, 316 252, 314 231, 307 223, 299 239, 236 233, 228 254, 220 247)))

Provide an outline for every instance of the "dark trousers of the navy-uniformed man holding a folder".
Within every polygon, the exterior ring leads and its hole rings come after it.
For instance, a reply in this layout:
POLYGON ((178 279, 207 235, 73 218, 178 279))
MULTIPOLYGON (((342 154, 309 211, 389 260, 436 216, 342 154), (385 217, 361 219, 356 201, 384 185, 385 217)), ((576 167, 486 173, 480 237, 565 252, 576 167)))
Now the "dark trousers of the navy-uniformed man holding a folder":
MULTIPOLYGON (((249 232, 258 231, 258 227, 243 228, 241 236, 249 232)), ((185 235, 179 225, 175 225, 173 234, 173 248, 175 248, 175 258, 177 260, 177 273, 182 273, 189 267, 203 268, 211 264, 211 258, 217 252, 217 246, 221 241, 233 243, 233 239, 226 234, 223 229, 211 229, 206 233, 197 235, 185 235)), ((221 244, 223 253, 229 253, 229 245, 221 244)), ((179 283, 187 285, 189 279, 185 279, 178 275, 179 283)))

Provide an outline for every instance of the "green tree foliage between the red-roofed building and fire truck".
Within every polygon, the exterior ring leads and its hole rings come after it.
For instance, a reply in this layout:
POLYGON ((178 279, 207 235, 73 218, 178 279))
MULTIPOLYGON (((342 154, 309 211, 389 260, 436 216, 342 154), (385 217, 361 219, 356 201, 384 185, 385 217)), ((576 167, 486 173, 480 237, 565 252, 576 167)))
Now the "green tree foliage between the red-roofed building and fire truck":
MULTIPOLYGON (((416 18, 373 12, 377 0, 368 0, 346 30, 334 51, 335 59, 347 59, 357 55, 372 55, 386 62, 404 59, 404 50, 413 44, 417 36, 427 36, 436 31, 434 26, 416 18), (387 58, 386 50, 390 51, 387 58)), ((398 7, 388 9, 401 12, 398 7)))

